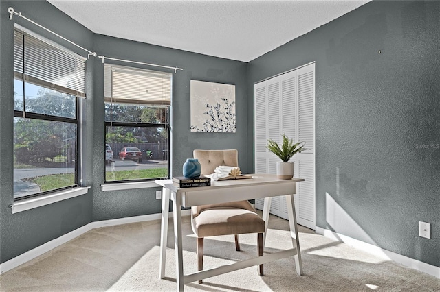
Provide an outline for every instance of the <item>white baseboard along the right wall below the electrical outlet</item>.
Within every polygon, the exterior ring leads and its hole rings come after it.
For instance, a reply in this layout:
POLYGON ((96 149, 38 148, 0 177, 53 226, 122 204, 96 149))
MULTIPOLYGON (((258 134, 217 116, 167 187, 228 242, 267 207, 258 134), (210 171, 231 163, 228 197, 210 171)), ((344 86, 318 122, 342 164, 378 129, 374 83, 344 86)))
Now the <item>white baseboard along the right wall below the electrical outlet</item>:
POLYGON ((384 250, 381 247, 378 247, 377 245, 365 243, 364 241, 353 239, 347 235, 339 234, 338 232, 333 232, 325 228, 320 228, 316 226, 315 231, 318 234, 322 234, 326 237, 329 237, 330 239, 335 239, 337 241, 347 243, 347 245, 356 247, 360 250, 363 250, 364 252, 369 252, 371 254, 374 254, 375 256, 380 256, 381 258, 384 258, 386 260, 393 260, 396 263, 399 263, 406 267, 410 267, 412 269, 416 269, 417 271, 422 271, 423 273, 428 273, 431 276, 440 278, 440 267, 429 265, 419 260, 408 258, 408 256, 402 256, 401 254, 390 252, 389 250, 384 250))

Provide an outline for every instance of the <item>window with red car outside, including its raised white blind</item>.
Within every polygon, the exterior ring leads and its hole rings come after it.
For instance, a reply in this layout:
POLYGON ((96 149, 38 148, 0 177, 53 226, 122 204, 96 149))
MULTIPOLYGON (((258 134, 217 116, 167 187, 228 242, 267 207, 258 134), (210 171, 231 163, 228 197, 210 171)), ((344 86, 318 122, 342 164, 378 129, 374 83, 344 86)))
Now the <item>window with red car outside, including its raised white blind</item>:
POLYGON ((104 64, 105 182, 169 177, 171 84, 170 73, 104 64))

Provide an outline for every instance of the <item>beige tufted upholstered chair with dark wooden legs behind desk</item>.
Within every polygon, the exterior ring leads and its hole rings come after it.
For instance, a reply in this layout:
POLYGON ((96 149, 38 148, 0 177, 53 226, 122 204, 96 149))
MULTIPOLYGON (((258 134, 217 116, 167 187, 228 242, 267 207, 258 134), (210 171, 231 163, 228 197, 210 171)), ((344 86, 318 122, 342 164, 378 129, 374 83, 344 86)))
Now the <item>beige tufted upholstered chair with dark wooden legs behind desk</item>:
MULTIPOLYGON (((193 156, 200 162, 201 175, 214 173, 214 169, 220 165, 239 167, 236 149, 194 150, 193 156)), ((248 201, 192 206, 191 226, 197 236, 199 271, 203 269, 203 239, 207 236, 234 234, 235 247, 239 251, 239 234, 256 233, 258 255, 263 255, 265 221, 248 201)), ((263 264, 259 265, 259 274, 263 276, 263 264)))

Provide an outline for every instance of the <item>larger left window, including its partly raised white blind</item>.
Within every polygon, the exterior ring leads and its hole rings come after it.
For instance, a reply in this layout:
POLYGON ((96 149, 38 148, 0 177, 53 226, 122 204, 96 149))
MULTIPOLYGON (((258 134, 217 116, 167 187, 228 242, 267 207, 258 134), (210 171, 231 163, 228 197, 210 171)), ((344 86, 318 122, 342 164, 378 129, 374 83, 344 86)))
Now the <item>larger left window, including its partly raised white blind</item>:
POLYGON ((14 30, 14 201, 78 186, 85 58, 14 30))

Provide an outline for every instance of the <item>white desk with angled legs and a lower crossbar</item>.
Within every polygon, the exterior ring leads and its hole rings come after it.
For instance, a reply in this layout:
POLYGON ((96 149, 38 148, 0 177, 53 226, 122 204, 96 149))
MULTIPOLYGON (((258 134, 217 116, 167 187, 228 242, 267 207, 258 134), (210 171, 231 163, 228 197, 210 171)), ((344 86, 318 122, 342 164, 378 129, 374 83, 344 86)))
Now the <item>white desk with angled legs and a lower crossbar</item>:
MULTIPOLYGON (((292 180, 280 180, 276 175, 271 174, 252 174, 252 179, 245 180, 225 180, 221 182, 211 181, 211 186, 197 188, 177 188, 173 180, 156 180, 155 182, 162 186, 162 226, 160 234, 160 267, 159 276, 165 278, 166 262, 166 239, 168 235, 168 217, 170 199, 173 201, 173 221, 175 236, 175 253, 177 269, 177 291, 184 291, 184 284, 195 282, 197 280, 217 276, 221 273, 236 271, 251 266, 267 263, 272 260, 295 257, 296 273, 303 273, 303 263, 301 262, 300 243, 298 239, 298 230, 296 229, 296 215, 294 205, 294 194, 296 193, 296 182, 302 182, 302 178, 293 178, 292 180), (234 191, 231 191, 234 188, 234 191), (184 275, 182 234, 181 234, 181 207, 190 207, 205 204, 216 204, 222 202, 234 202, 244 199, 265 198, 263 206, 263 220, 269 221, 270 204, 272 197, 285 195, 287 200, 287 210, 289 213, 289 226, 292 235, 294 248, 283 250, 273 254, 266 254, 249 260, 243 260, 232 265, 225 265, 214 269, 197 271, 184 275)), ((266 239, 266 232, 263 237, 266 239)))

